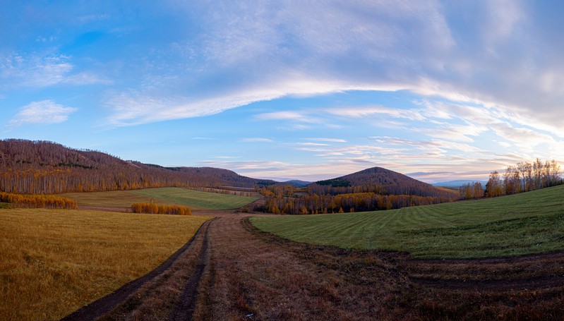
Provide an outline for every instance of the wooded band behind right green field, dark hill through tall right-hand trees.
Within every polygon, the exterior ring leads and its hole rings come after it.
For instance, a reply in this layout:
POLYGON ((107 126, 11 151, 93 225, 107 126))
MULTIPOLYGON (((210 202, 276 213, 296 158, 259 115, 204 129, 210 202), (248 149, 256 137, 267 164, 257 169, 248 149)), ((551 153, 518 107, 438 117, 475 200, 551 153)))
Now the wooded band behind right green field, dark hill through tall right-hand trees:
POLYGON ((318 181, 307 188, 274 185, 261 188, 265 212, 275 214, 324 214, 431 205, 461 199, 496 197, 537 190, 563 183, 555 160, 520 162, 505 174, 493 171, 486 187, 464 184, 458 191, 436 188, 408 176, 374 167, 355 174, 318 181))

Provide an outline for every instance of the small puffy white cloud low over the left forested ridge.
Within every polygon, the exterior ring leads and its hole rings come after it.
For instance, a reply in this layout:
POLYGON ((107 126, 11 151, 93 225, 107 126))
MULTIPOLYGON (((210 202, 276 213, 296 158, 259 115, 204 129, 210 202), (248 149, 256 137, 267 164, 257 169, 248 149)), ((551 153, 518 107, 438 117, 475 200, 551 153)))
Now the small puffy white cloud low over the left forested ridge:
POLYGON ((20 109, 18 114, 9 122, 9 126, 31 123, 62 123, 75 111, 78 111, 78 108, 64 107, 52 100, 32 102, 20 109))

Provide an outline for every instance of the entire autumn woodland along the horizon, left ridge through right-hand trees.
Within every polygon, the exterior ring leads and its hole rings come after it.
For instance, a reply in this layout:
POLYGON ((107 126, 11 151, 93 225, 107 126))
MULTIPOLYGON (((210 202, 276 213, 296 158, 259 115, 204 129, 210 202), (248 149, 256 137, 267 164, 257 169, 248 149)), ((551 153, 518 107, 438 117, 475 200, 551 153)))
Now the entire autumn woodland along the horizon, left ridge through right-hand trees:
MULTIPOLYGON (((74 150, 52 142, 0 140, 0 192, 37 195, 155 187, 222 190, 229 186, 244 191, 259 190, 265 202, 258 210, 276 214, 392 210, 510 195, 561 183, 560 166, 555 160, 536 159, 508 166, 505 174, 491 172, 485 187, 470 183, 458 192, 380 167, 296 187, 241 176, 227 169, 164 167, 124 161, 104 152, 74 150)), ((18 200, 62 206, 58 205, 61 200, 55 198, 18 200)))

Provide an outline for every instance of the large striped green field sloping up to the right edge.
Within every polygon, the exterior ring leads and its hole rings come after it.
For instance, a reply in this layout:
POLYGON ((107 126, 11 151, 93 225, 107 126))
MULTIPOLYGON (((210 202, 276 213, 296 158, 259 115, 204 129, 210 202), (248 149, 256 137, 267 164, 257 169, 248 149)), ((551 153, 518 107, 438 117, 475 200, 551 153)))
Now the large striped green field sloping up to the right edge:
POLYGON ((564 186, 400 210, 252 217, 292 241, 394 250, 419 258, 488 258, 564 250, 564 186))

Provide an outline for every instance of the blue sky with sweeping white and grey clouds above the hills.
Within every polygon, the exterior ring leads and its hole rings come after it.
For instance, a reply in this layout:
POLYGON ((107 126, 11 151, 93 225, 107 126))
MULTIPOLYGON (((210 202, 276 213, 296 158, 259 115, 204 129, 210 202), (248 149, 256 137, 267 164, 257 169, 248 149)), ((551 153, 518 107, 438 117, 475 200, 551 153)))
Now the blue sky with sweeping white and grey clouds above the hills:
POLYGON ((275 180, 564 164, 564 1, 0 6, 2 139, 275 180))

